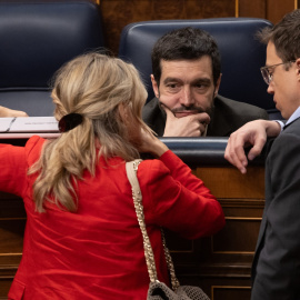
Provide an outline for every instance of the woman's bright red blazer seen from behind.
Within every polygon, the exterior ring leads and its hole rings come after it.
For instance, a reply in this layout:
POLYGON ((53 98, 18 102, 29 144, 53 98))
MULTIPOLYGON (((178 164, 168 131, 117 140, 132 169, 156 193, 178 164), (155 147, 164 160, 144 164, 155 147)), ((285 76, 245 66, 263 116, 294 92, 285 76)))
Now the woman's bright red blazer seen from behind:
MULTIPOLYGON (((100 159, 96 176, 78 182, 76 213, 32 200, 37 176, 28 168, 44 140, 0 144, 0 190, 22 197, 27 211, 23 254, 9 299, 146 299, 149 276, 124 161, 100 159)), ((224 226, 222 209, 203 182, 171 151, 140 163, 138 179, 159 280, 169 283, 160 226, 194 239, 224 226)))

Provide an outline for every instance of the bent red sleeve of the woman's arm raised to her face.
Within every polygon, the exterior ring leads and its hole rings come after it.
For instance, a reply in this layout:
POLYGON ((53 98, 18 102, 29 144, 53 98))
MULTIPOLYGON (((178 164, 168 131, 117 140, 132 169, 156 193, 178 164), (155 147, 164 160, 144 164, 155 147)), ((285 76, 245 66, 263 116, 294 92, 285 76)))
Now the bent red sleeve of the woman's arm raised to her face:
POLYGON ((189 239, 213 234, 224 226, 220 203, 171 151, 160 160, 141 162, 138 179, 149 224, 162 226, 189 239))

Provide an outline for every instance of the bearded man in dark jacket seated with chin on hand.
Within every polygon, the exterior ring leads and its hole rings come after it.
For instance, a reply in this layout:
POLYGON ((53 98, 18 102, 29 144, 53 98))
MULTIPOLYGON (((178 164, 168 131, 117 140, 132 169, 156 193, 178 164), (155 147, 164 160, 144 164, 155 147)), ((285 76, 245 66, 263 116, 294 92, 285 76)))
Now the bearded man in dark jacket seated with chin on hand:
POLYGON ((142 118, 160 137, 228 137, 248 121, 268 119, 263 109, 218 94, 220 53, 203 30, 189 27, 161 37, 152 70, 156 98, 142 118))

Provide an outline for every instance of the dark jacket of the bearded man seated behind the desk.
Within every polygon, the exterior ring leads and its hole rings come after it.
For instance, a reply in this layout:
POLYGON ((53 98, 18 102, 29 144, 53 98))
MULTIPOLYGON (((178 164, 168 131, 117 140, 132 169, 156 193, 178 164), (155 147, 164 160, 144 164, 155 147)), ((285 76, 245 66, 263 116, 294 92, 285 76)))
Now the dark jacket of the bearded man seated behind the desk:
MULTIPOLYGON (((166 112, 160 108, 157 98, 153 98, 144 106, 142 119, 159 137, 163 136, 166 118, 166 112)), ((218 94, 214 98, 214 112, 207 136, 229 137, 244 123, 257 119, 268 120, 268 112, 261 108, 233 101, 218 94)))

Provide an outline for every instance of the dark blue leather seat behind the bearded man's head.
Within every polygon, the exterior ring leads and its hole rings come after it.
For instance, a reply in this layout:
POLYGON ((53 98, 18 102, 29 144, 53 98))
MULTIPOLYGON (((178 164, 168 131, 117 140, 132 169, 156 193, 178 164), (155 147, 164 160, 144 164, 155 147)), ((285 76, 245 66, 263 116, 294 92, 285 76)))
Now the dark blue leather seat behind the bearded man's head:
POLYGON ((263 108, 270 119, 282 119, 260 73, 266 63, 266 46, 256 38, 259 30, 272 23, 257 18, 143 21, 124 27, 119 57, 137 67, 147 86, 148 100, 154 97, 150 80, 154 42, 168 31, 189 26, 208 31, 219 46, 222 72, 219 93, 263 108))

